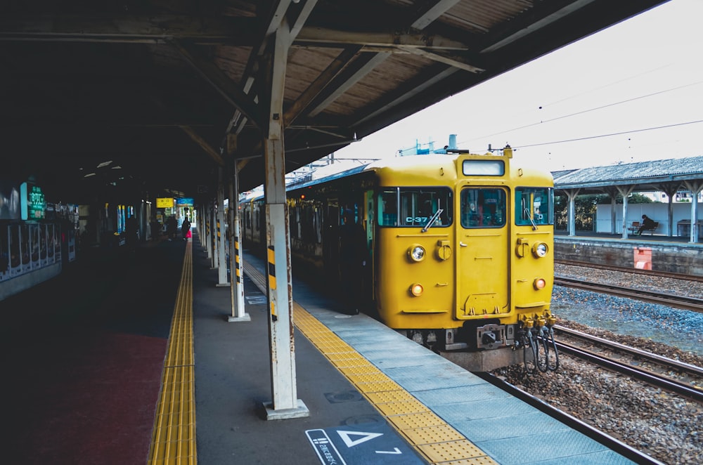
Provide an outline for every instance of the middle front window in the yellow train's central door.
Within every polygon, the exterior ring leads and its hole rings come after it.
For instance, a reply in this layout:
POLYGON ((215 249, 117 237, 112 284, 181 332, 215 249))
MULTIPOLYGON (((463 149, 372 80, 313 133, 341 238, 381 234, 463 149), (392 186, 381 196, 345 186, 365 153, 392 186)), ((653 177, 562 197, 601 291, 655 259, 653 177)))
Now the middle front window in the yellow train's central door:
POLYGON ((505 226, 505 190, 466 188, 461 191, 461 225, 466 229, 505 226))

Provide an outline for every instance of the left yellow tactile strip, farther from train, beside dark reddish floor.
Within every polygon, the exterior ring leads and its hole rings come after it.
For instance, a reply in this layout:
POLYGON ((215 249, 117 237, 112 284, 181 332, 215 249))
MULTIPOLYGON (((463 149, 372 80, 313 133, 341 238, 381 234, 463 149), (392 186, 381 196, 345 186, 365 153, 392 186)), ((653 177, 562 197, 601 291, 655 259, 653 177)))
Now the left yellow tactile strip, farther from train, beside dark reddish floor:
POLYGON ((197 464, 193 360, 193 254, 186 244, 148 464, 197 464))

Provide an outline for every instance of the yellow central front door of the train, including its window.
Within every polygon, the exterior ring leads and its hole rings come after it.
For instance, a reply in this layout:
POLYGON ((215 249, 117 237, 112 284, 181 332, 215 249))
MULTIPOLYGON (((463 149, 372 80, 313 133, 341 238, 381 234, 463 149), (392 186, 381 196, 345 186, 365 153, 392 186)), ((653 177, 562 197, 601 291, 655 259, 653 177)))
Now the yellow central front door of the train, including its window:
POLYGON ((457 228, 457 306, 460 320, 510 310, 507 195, 502 188, 464 188, 457 228))

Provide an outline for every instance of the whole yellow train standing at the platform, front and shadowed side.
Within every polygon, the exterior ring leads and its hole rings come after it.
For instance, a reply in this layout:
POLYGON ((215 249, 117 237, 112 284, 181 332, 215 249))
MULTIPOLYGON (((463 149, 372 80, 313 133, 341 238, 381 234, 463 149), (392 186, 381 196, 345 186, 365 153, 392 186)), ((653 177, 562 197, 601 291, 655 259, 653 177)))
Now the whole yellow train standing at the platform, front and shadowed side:
MULTIPOLYGON (((509 147, 396 157, 287 196, 293 273, 319 272, 352 313, 437 351, 483 353, 475 369, 519 362, 510 349, 554 323, 553 179, 509 147)), ((265 241, 262 202, 242 204, 245 247, 265 241)))

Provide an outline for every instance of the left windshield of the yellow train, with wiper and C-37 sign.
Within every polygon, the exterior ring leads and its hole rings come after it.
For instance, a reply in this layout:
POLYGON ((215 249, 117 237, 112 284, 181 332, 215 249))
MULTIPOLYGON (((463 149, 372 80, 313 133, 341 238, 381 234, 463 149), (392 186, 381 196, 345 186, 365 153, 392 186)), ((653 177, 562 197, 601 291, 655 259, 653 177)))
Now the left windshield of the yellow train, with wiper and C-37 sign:
POLYGON ((378 194, 378 225, 423 228, 430 218, 441 212, 430 225, 443 228, 452 222, 449 188, 385 188, 378 194))

